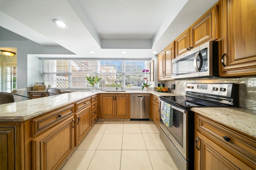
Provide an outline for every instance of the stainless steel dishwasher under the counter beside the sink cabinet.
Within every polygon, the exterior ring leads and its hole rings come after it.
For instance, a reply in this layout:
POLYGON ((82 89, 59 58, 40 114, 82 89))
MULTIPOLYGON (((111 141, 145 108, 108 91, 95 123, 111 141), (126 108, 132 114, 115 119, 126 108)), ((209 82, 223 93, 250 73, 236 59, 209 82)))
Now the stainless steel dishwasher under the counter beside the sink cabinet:
POLYGON ((130 120, 150 119, 150 94, 130 94, 130 120))

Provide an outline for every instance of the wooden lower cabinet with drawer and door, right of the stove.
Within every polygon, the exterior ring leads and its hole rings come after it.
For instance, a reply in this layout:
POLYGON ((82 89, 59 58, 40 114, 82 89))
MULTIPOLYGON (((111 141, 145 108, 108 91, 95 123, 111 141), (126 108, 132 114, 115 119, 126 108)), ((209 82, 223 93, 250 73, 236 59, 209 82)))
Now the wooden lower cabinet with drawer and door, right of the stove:
POLYGON ((196 115, 196 170, 256 169, 256 139, 196 115))

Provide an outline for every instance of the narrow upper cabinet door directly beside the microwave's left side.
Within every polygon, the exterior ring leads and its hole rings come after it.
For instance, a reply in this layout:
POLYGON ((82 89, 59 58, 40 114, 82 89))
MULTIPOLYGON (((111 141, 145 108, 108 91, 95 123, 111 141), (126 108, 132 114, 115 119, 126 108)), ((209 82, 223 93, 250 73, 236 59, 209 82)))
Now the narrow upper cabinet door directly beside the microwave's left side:
POLYGON ((175 46, 174 42, 172 42, 166 49, 164 49, 164 68, 165 74, 164 78, 171 78, 172 77, 172 59, 175 58, 175 46))

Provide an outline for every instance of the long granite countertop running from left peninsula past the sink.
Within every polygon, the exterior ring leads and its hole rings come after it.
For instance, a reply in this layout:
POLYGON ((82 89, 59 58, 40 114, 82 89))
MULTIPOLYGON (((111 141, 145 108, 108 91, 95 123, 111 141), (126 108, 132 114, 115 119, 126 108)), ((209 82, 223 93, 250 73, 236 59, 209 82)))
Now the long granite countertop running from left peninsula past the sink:
POLYGON ((58 109, 62 106, 66 106, 68 104, 72 104, 78 100, 83 98, 90 97, 95 94, 154 94, 156 96, 177 96, 180 94, 174 93, 161 93, 154 91, 141 91, 141 90, 128 90, 126 92, 102 92, 96 91, 91 92, 87 91, 76 91, 70 93, 64 93, 60 95, 48 96, 44 98, 36 98, 31 100, 24 100, 21 102, 13 102, 8 104, 0 105, 0 122, 4 121, 25 121, 36 117, 38 115, 42 115, 54 109, 58 109))

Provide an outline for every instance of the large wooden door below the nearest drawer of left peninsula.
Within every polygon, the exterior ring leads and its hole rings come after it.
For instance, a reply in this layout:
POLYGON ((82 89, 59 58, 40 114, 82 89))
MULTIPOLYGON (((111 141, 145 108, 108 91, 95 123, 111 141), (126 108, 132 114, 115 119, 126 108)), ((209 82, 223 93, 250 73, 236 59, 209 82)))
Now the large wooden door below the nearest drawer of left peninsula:
POLYGON ((32 140, 32 169, 58 169, 74 149, 74 115, 32 140))

